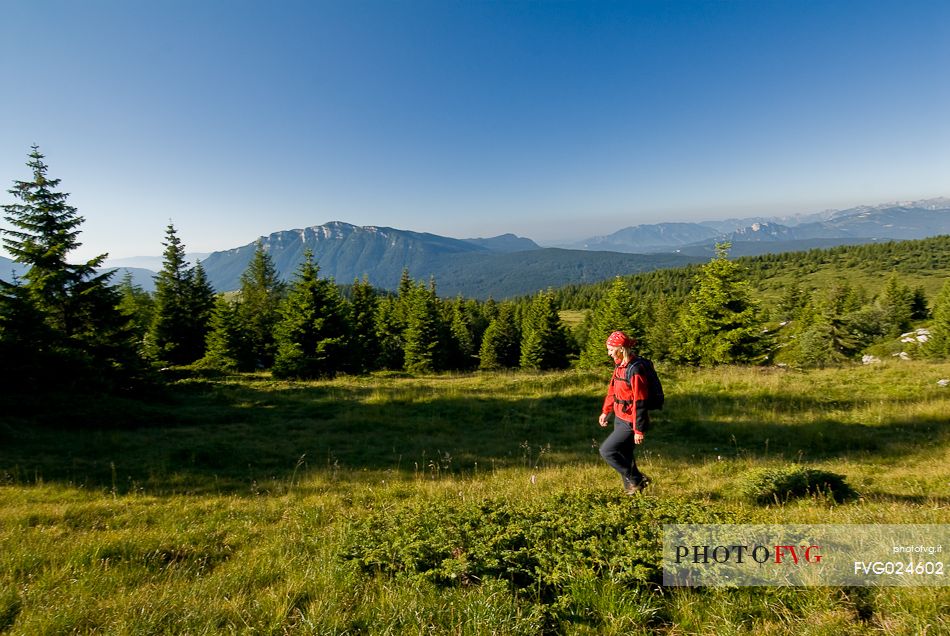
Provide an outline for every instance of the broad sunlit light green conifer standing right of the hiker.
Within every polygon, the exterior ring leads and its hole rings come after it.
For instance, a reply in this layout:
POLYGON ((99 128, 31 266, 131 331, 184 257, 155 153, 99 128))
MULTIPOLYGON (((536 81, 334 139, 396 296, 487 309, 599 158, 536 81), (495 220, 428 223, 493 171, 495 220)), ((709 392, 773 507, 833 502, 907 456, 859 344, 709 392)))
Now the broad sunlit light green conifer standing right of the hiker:
POLYGON ((680 320, 682 349, 678 357, 712 366, 754 362, 762 354, 762 326, 749 283, 738 264, 728 259, 730 245, 716 246, 716 257, 704 265, 680 320))

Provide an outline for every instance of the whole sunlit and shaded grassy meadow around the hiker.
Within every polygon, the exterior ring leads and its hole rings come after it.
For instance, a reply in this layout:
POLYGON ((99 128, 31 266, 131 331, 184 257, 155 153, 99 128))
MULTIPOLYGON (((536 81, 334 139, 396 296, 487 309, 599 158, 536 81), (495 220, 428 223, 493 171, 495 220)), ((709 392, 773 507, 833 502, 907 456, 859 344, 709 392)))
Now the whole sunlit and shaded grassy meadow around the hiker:
POLYGON ((950 363, 659 370, 637 498, 597 452, 609 369, 2 398, 0 633, 950 633, 950 587, 651 569, 666 519, 950 523, 950 363), (790 464, 857 497, 743 493, 790 464))

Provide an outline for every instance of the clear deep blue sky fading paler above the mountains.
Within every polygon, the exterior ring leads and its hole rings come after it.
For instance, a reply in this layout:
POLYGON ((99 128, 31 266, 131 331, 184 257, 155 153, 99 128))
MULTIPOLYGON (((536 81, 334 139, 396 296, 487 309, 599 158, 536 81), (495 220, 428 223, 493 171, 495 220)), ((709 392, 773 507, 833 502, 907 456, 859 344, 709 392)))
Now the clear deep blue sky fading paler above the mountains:
POLYGON ((340 220, 542 244, 950 196, 950 2, 0 0, 0 202, 77 257, 340 220))

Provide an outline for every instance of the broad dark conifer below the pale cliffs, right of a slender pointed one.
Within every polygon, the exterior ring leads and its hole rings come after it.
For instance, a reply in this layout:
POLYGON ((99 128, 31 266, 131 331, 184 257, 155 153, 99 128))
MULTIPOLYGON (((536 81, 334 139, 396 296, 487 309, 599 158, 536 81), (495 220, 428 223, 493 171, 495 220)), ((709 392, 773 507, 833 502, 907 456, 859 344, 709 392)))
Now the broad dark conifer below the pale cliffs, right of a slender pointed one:
POLYGON ((346 366, 346 308, 336 284, 319 273, 308 249, 282 305, 274 377, 332 377, 346 366))

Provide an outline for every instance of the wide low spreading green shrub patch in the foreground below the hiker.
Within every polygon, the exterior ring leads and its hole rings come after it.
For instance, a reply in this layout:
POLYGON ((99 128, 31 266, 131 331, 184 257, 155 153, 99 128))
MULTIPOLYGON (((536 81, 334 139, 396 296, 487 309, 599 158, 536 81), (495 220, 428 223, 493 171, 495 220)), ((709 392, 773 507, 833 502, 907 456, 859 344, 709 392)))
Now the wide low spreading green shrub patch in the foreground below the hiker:
POLYGON ((506 580, 553 602, 580 576, 659 584, 663 524, 723 523, 724 516, 687 500, 615 493, 413 501, 354 520, 343 558, 366 573, 443 586, 506 580))

